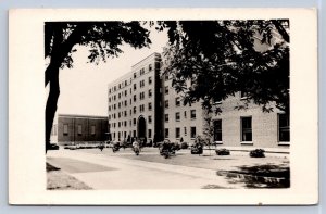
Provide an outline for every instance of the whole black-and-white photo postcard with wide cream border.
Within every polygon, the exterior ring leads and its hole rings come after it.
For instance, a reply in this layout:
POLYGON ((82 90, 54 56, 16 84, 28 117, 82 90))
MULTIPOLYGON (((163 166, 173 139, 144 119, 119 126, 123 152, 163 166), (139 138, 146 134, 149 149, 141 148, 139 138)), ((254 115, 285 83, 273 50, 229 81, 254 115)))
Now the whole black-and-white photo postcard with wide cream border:
POLYGON ((315 9, 9 12, 9 203, 318 203, 315 9))

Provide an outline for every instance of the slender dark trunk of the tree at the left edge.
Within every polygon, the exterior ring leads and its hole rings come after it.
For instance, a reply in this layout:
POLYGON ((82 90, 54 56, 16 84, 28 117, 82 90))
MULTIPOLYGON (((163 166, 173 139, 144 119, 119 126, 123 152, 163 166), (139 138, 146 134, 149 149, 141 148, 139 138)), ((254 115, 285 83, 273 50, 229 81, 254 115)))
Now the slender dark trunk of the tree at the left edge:
POLYGON ((50 63, 49 67, 49 84, 50 84, 50 91, 46 106, 46 152, 50 147, 50 135, 53 125, 54 115, 57 112, 57 103, 58 98, 60 95, 59 88, 59 65, 55 63, 50 63))

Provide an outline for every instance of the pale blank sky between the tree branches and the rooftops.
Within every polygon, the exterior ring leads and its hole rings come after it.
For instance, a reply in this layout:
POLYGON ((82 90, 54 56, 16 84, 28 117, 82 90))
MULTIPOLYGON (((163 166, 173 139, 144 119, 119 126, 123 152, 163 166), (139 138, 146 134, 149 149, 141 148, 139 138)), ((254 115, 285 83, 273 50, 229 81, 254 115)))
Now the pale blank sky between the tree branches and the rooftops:
POLYGON ((150 39, 150 48, 135 50, 125 45, 118 58, 110 58, 98 65, 87 63, 88 49, 78 47, 73 53, 73 68, 60 71, 57 113, 106 116, 109 83, 130 72, 134 64, 151 53, 161 53, 167 43, 167 34, 151 29, 150 39))

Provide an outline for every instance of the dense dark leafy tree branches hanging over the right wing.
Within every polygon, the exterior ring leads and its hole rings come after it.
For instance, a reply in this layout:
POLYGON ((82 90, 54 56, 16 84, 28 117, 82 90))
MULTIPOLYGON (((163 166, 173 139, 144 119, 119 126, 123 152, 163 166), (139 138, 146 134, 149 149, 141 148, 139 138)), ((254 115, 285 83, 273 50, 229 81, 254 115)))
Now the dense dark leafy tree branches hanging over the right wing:
POLYGON ((201 100, 221 113, 214 103, 244 91, 247 105, 289 113, 288 26, 288 20, 159 22, 170 39, 164 75, 173 77, 184 104, 201 100))

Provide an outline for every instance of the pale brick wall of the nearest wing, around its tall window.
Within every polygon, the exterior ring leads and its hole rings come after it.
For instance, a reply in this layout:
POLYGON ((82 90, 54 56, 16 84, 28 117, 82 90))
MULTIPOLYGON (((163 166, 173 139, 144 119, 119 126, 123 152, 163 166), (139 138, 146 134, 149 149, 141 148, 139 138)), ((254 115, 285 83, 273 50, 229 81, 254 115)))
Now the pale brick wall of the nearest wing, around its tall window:
POLYGON ((279 110, 274 108, 274 112, 265 113, 262 108, 249 103, 248 108, 235 110, 235 106, 243 105, 244 100, 240 98, 240 92, 222 101, 218 106, 222 110, 220 115, 212 116, 212 119, 222 119, 222 141, 224 147, 242 148, 278 148, 287 147, 290 142, 280 142, 278 139, 278 114, 279 110), (252 140, 241 140, 241 117, 252 119, 252 140))

